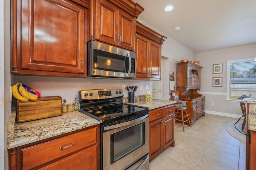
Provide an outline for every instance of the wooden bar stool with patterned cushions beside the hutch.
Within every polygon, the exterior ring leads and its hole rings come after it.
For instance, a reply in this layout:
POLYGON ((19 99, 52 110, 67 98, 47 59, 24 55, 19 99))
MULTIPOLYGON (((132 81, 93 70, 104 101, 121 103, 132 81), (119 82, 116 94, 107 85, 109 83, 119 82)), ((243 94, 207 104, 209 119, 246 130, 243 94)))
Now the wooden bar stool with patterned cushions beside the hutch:
POLYGON ((179 92, 178 91, 171 91, 171 95, 172 95, 172 100, 176 101, 176 103, 174 104, 175 107, 175 111, 174 113, 176 114, 175 116, 175 122, 182 122, 182 127, 183 127, 183 131, 184 130, 184 123, 188 122, 188 125, 191 127, 191 123, 190 120, 188 118, 189 114, 187 112, 187 104, 186 101, 182 101, 179 99, 179 92))

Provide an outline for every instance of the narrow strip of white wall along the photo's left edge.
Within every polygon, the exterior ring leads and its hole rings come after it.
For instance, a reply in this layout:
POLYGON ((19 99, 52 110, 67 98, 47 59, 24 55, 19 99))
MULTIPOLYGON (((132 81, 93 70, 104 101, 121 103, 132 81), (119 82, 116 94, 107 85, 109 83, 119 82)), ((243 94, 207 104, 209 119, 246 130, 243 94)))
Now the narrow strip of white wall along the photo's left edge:
POLYGON ((10 102, 10 0, 0 1, 0 169, 8 169, 6 127, 11 114, 10 102))

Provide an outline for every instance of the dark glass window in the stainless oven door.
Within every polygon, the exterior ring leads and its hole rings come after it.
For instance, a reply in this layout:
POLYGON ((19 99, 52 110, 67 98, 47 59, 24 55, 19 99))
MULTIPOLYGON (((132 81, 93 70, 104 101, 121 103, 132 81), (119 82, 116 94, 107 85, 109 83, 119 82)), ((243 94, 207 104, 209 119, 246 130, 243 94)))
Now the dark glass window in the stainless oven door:
POLYGON ((110 162, 126 156, 145 144, 145 123, 140 123, 110 135, 110 162))

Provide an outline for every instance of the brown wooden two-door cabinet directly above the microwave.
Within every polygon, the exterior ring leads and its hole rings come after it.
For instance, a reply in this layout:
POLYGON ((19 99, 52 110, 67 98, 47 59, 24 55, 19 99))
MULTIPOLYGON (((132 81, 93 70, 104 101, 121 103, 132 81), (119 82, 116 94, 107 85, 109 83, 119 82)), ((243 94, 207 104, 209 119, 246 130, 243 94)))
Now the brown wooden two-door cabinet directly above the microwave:
POLYGON ((135 20, 144 8, 130 0, 91 0, 91 9, 92 40, 134 51, 135 20))

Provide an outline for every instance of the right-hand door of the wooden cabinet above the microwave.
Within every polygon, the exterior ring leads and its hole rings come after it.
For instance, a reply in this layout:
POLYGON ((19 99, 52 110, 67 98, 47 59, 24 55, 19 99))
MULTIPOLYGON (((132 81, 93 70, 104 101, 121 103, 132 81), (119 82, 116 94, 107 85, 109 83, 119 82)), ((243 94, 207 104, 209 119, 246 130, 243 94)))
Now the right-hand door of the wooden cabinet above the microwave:
POLYGON ((134 51, 135 19, 119 10, 118 20, 118 46, 134 51))

